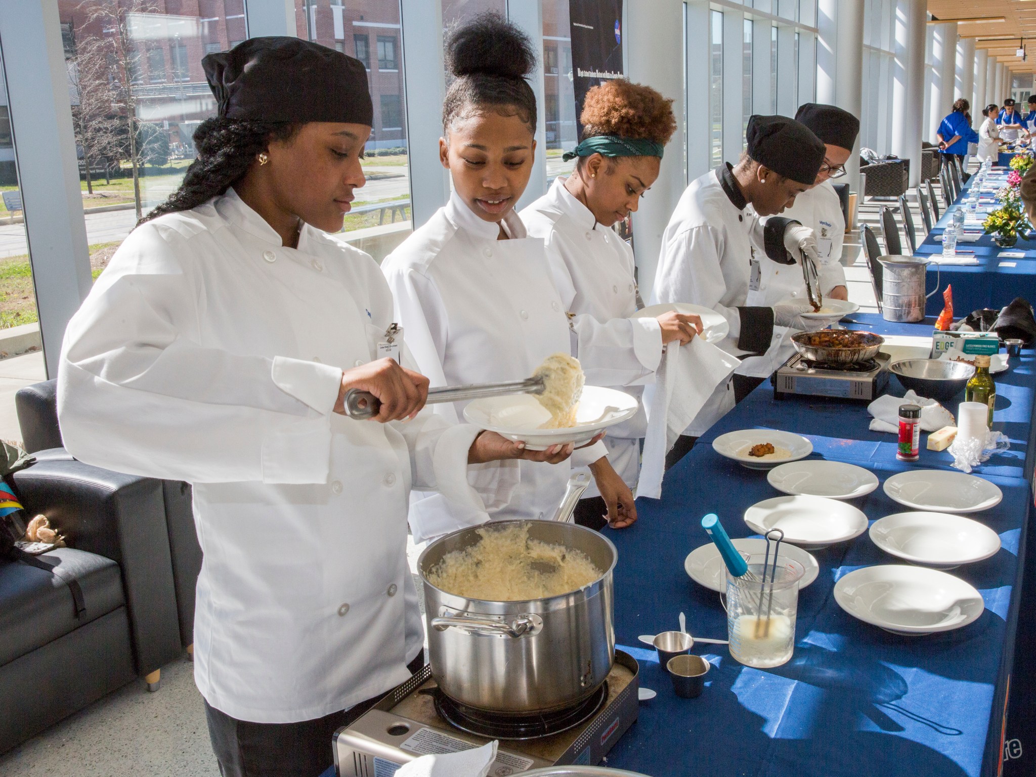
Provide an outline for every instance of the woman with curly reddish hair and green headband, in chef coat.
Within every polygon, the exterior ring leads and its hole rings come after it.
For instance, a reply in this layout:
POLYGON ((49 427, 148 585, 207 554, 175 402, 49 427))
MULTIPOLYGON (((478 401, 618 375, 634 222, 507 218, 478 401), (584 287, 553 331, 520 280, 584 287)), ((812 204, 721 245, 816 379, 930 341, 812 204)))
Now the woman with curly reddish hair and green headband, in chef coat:
MULTIPOLYGON (((629 318, 637 311, 633 251, 611 226, 637 209, 658 178, 662 149, 677 128, 672 100, 655 89, 624 79, 595 86, 583 99, 582 142, 565 159, 577 160, 568 177, 521 212, 533 237, 547 246, 555 285, 566 310, 599 321, 629 318)), ((655 353, 660 355, 661 350, 655 353)), ((639 397, 642 390, 621 390, 639 397)), ((636 486, 640 438, 646 431, 641 407, 632 419, 608 430, 608 459, 626 484, 636 486)), ((589 492, 577 508, 592 516, 605 506, 589 492)))

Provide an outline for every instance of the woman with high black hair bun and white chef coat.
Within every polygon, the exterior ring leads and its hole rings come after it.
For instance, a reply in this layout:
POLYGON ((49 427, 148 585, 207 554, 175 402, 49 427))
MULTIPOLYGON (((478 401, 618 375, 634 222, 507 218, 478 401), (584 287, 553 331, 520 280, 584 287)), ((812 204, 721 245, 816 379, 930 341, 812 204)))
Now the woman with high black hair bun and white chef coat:
MULTIPOLYGON (((457 30, 448 45, 454 75, 442 109, 439 153, 453 179, 450 202, 382 263, 397 319, 432 385, 526 378, 551 353, 580 359, 592 385, 649 377, 665 337, 689 341, 687 317, 666 322, 572 320, 554 287, 542 239, 514 211, 531 172, 536 98, 525 76, 536 63, 528 38, 493 13, 457 30), (663 329, 665 332, 663 332, 663 329)), ((437 405, 456 419, 462 408, 437 405)), ((614 527, 636 520, 629 486, 597 443, 572 461, 589 465, 614 527)), ((521 462, 510 499, 489 505, 494 519, 549 519, 569 467, 521 462)), ((439 496, 415 499, 415 540, 470 525, 439 496)))

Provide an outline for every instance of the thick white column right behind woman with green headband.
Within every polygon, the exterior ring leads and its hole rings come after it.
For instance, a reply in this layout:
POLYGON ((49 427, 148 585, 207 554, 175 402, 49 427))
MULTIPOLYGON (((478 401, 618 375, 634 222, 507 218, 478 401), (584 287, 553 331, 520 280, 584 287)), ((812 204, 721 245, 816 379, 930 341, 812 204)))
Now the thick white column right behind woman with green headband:
MULTIPOLYGON (((626 73, 631 81, 651 84, 666 97, 671 97, 672 112, 679 119, 684 115, 684 74, 681 67, 673 67, 673 62, 681 61, 684 48, 683 3, 629 0, 626 8, 626 73)), ((741 33, 740 24, 738 33, 741 33)), ((740 57, 737 59, 741 61, 740 57)), ((738 91, 740 93, 740 89, 738 91)), ((707 110, 708 105, 706 100, 699 108, 707 110)), ((687 185, 683 148, 684 122, 678 120, 677 132, 662 159, 658 180, 633 214, 633 250, 640 295, 644 299, 651 296, 655 282, 662 232, 687 185)))

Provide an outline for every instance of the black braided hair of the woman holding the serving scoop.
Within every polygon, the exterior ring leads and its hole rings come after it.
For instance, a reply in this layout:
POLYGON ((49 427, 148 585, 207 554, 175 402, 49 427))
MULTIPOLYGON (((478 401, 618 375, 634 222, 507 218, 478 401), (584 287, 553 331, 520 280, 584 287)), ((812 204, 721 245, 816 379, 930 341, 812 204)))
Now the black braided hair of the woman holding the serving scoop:
POLYGON ((290 140, 298 124, 289 121, 206 119, 194 134, 198 156, 169 199, 141 219, 138 226, 166 213, 190 210, 224 194, 240 180, 270 141, 290 140))

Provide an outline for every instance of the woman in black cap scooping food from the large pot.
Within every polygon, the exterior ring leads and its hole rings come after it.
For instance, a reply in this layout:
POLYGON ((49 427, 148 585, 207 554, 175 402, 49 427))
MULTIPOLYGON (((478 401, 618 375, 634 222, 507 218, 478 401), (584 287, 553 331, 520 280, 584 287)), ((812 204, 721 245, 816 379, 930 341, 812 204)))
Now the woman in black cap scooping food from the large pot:
POLYGON ((221 773, 316 777, 336 728, 421 665, 410 487, 484 516, 507 473, 479 492, 469 462, 548 454, 419 414, 427 378, 379 357, 392 294, 327 234, 365 182, 364 65, 294 37, 203 65, 218 118, 69 322, 58 414, 77 458, 194 486, 195 680, 221 773), (342 414, 352 387, 375 421, 342 414))

